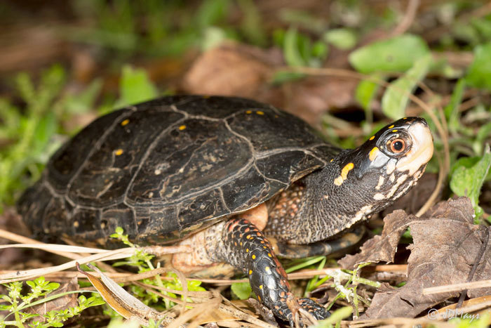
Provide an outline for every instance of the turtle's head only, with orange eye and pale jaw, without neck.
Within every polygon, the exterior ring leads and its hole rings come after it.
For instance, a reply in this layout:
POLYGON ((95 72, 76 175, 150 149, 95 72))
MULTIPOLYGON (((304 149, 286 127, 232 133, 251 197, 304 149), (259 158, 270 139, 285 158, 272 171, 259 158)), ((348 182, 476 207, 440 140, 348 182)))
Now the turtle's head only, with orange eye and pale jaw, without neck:
POLYGON ((380 210, 405 195, 422 176, 433 156, 433 136, 426 121, 405 117, 384 126, 363 145, 339 158, 341 173, 335 185, 363 190, 364 203, 380 210), (351 167, 349 173, 343 174, 351 167), (341 179, 346 176, 347 181, 341 179), (370 196, 372 199, 367 199, 370 196))

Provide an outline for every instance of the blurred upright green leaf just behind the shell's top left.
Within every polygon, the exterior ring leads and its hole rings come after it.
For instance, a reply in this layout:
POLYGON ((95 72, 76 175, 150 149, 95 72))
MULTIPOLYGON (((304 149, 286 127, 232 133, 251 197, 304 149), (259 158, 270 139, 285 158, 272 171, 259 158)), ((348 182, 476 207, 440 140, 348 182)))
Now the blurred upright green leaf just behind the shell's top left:
POLYGON ((130 105, 150 100, 157 96, 157 91, 150 81, 147 72, 129 65, 123 67, 120 83, 121 99, 118 105, 130 105))

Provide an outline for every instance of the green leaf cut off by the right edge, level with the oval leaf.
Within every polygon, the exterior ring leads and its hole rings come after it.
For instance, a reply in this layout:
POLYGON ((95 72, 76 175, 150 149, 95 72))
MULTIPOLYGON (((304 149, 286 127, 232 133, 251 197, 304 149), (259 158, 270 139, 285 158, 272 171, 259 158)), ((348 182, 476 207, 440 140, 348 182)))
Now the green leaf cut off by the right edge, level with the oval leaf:
POLYGON ((474 48, 474 60, 467 72, 466 81, 475 88, 491 90, 491 43, 474 48))

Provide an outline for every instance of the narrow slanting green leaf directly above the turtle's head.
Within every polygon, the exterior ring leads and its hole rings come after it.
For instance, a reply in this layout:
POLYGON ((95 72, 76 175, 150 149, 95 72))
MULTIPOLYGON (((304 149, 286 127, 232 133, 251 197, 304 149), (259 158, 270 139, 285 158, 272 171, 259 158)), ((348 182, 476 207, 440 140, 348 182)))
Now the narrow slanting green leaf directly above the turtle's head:
POLYGON ((431 64, 431 55, 419 58, 402 77, 393 81, 382 97, 382 111, 391 119, 404 116, 408 105, 408 93, 416 88, 417 83, 424 79, 431 64))

